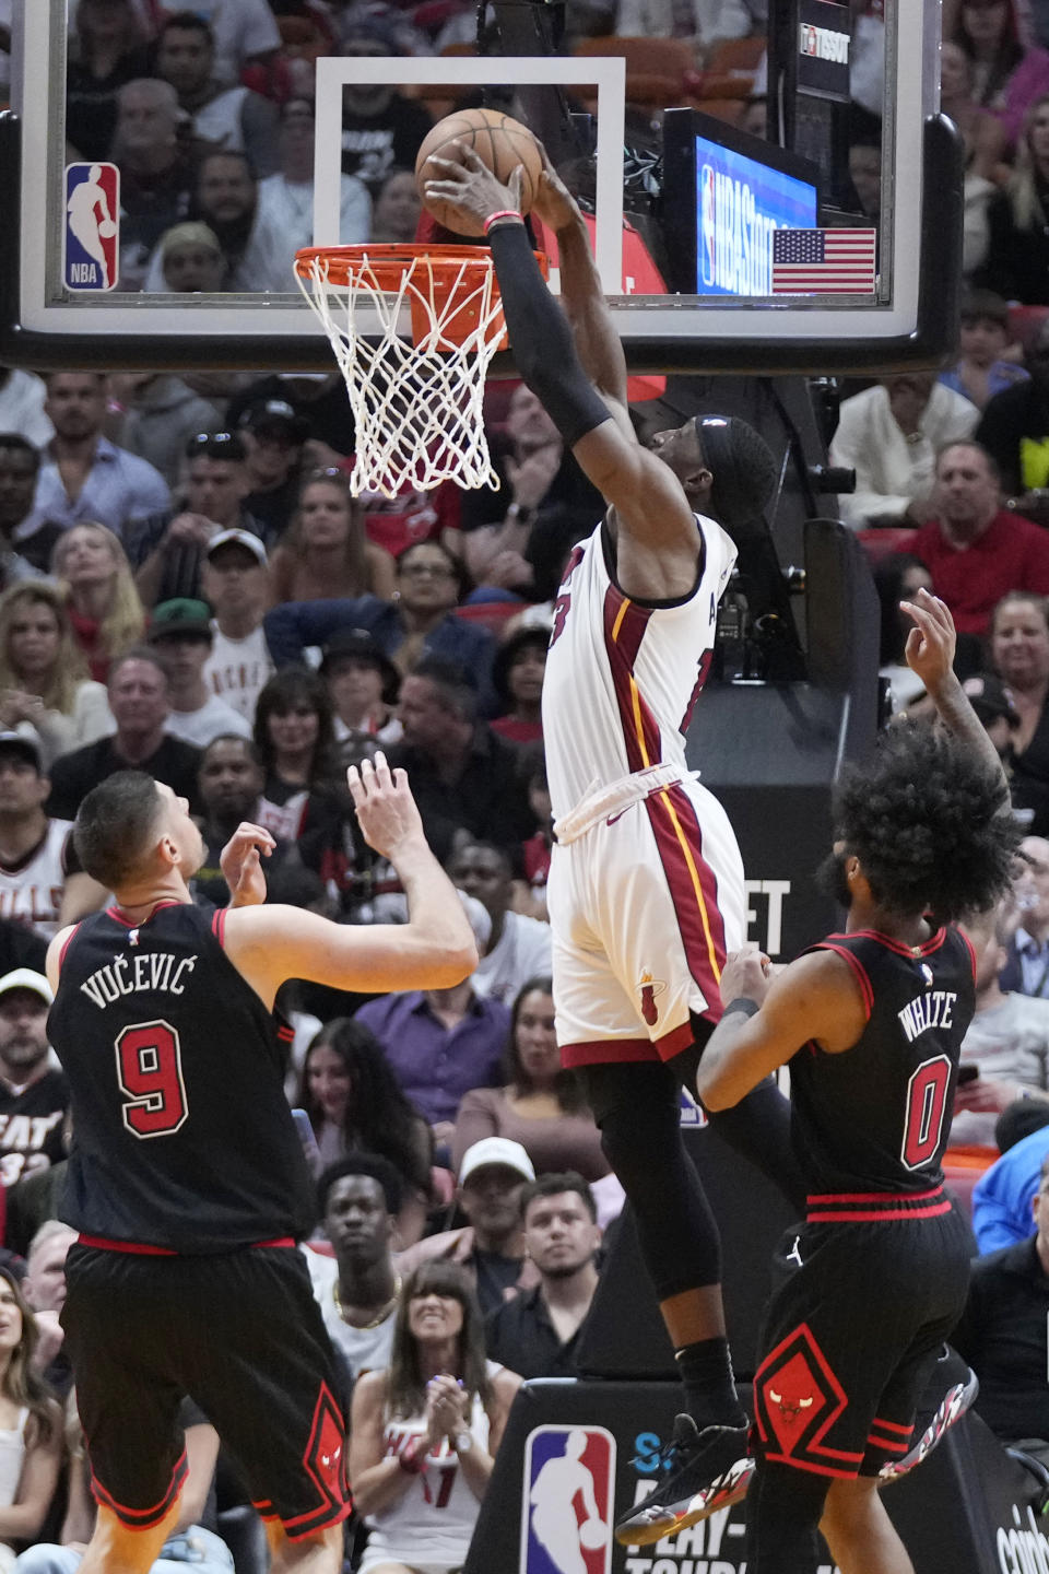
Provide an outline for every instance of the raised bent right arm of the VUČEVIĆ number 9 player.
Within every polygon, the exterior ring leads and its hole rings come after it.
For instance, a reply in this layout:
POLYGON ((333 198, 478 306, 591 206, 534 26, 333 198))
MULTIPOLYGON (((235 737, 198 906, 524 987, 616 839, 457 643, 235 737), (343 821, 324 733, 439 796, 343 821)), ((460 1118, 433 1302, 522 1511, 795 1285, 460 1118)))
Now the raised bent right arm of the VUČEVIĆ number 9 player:
POLYGON ((332 924, 293 907, 226 914, 230 960, 269 1004, 289 977, 374 992, 448 988, 477 966, 466 910, 431 853, 404 771, 385 756, 351 767, 349 790, 365 839, 388 858, 407 896, 407 924, 332 924))

